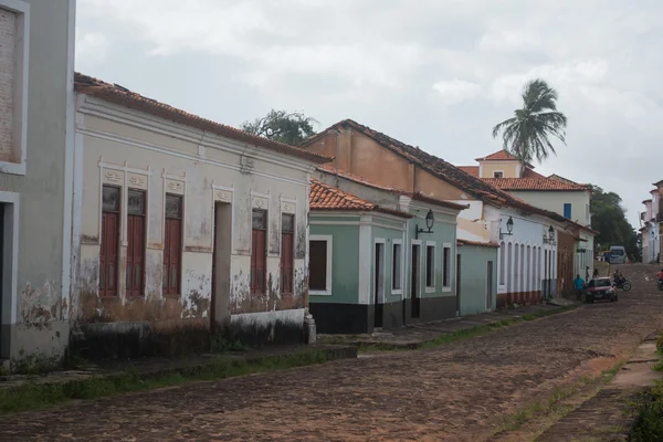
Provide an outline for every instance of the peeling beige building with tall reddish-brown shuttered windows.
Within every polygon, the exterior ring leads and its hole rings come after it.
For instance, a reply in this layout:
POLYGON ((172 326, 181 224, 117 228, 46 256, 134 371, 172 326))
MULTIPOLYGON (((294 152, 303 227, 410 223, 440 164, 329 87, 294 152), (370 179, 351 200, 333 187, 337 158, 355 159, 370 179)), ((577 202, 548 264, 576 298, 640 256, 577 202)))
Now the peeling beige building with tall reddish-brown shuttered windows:
POLYGON ((74 350, 206 350, 210 325, 304 340, 309 173, 328 159, 88 76, 75 88, 74 350))

